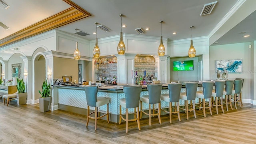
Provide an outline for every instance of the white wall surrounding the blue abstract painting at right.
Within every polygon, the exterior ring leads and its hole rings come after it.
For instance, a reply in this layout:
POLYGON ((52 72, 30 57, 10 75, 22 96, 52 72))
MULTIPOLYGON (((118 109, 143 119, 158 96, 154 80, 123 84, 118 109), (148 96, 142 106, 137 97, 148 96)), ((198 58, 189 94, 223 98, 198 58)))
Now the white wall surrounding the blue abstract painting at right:
MULTIPOLYGON (((217 79, 216 60, 242 59, 242 73, 228 73, 228 79, 244 78, 242 98, 244 102, 250 102, 250 80, 251 80, 251 49, 250 42, 238 44, 226 44, 210 46, 210 79, 217 79)), ((222 73, 221 73, 222 74, 222 73)))

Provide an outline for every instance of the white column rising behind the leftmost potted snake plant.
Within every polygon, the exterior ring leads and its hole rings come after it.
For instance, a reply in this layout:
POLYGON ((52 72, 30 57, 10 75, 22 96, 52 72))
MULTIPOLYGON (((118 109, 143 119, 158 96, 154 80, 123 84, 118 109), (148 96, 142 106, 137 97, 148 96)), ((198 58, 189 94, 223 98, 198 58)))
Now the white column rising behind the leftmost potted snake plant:
POLYGON ((26 85, 26 92, 27 92, 27 100, 26 104, 32 103, 32 63, 31 63, 31 56, 20 56, 20 58, 23 60, 23 80, 26 85))

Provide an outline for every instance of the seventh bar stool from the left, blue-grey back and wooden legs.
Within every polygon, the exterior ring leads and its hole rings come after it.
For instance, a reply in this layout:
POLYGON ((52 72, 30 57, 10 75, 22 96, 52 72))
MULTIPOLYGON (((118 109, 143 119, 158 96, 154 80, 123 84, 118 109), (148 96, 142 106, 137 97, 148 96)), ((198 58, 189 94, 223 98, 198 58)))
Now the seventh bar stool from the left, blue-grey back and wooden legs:
POLYGON ((215 81, 214 85, 215 85, 215 92, 212 92, 212 106, 216 106, 217 114, 219 114, 218 106, 221 106, 222 112, 224 113, 222 96, 223 96, 225 81, 215 81), (214 104, 214 98, 215 98, 215 104, 214 104), (220 102, 218 102, 218 98, 220 98, 220 102))

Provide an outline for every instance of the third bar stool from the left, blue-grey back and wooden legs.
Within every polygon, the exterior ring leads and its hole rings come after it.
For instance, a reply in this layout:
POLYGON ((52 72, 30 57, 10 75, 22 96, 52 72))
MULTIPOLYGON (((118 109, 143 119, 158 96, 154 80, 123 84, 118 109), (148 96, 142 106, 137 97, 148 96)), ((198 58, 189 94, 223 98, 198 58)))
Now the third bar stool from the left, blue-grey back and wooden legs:
POLYGON ((149 125, 151 126, 151 116, 158 116, 158 121, 161 124, 161 103, 160 96, 162 91, 162 84, 148 84, 148 95, 140 96, 140 119, 142 118, 142 112, 149 116, 149 125), (142 102, 148 104, 148 113, 142 110, 142 102), (153 114, 151 114, 151 104, 153 104, 153 114), (154 104, 158 104, 158 110, 154 109, 154 104), (157 111, 157 114, 154 111, 157 111))

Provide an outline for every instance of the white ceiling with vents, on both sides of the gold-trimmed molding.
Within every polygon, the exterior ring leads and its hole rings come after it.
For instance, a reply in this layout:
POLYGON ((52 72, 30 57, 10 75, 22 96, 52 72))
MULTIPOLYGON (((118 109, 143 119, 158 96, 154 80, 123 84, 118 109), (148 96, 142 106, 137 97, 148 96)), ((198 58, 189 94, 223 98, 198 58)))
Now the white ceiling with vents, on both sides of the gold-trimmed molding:
MULTIPOLYGON (((6 24, 10 29, 4 30, 0 27, 0 39, 25 28, 39 20, 47 18, 70 6, 62 0, 4 0, 10 5, 10 8, 0 8, 0 21, 6 24)), ((238 2, 238 0, 218 0, 211 14, 200 16, 204 4, 214 2, 215 0, 72 0, 84 10, 88 11, 92 16, 78 20, 71 24, 67 24, 58 30, 68 33, 75 33, 78 28, 90 35, 82 38, 87 40, 95 39, 96 32, 95 22, 104 24, 111 29, 110 32, 104 32, 98 29, 98 38, 105 38, 120 34, 120 16, 123 24, 127 25, 123 28, 123 33, 138 34, 134 29, 143 28, 145 36, 160 36, 162 24, 162 36, 169 40, 180 40, 191 37, 190 26, 193 28, 193 37, 208 36, 216 25, 224 18, 230 9, 238 2), (145 28, 150 28, 146 31, 145 28), (172 34, 177 32, 177 34, 172 34)), ((248 21, 254 20, 248 18, 248 21)), ((248 23, 248 22, 247 22, 248 23)), ((251 32, 252 26, 243 26, 238 24, 230 30, 223 38, 220 38, 219 44, 222 42, 229 43, 234 33, 251 32), (251 29, 249 29, 251 28, 251 29)), ((255 34, 255 31, 254 31, 255 34)), ((252 34, 253 35, 253 34, 252 34)), ((240 37, 241 38, 241 37, 240 37)), ((251 36, 253 38, 253 36, 251 36)), ((256 38, 254 37, 254 40, 256 38)), ((238 42, 236 40, 235 42, 238 42)), ((234 43, 234 42, 233 42, 234 43)))

